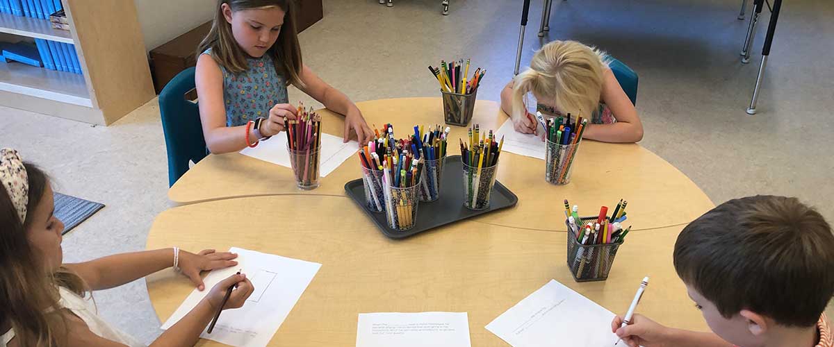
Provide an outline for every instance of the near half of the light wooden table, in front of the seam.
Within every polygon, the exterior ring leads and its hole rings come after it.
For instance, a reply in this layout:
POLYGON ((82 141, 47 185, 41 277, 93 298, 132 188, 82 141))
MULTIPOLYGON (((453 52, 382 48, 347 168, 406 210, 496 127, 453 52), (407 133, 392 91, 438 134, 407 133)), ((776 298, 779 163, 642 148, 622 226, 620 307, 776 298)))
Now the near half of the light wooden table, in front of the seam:
MULTIPOLYGON (((681 226, 630 234, 608 280, 577 283, 565 265, 565 232, 462 221, 389 240, 361 213, 347 197, 304 194, 180 206, 154 221, 148 249, 237 246, 321 263, 274 335, 270 345, 275 346, 354 345, 359 313, 421 311, 468 312, 472 345, 505 346, 485 325, 550 279, 623 315, 646 275, 651 286, 641 314, 666 325, 707 329, 672 267, 681 226), (328 217, 287 217, 310 211, 328 217)), ((163 321, 191 290, 186 277, 170 270, 148 277, 153 307, 163 321)))

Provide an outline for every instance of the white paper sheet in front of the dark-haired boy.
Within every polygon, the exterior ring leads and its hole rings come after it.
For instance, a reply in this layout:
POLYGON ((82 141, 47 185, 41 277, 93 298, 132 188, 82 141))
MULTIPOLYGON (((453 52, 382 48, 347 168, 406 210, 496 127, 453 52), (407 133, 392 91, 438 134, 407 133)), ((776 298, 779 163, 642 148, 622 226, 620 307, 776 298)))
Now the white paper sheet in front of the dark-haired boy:
POLYGON ((611 347, 614 314, 561 283, 550 282, 498 316, 486 330, 514 347, 611 347))

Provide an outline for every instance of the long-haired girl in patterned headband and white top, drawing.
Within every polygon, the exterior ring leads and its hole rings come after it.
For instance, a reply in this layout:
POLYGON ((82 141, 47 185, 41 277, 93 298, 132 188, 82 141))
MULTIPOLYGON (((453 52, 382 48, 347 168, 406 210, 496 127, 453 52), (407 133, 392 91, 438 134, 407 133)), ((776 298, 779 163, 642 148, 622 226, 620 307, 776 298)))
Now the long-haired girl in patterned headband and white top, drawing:
MULTIPOLYGON (((123 285, 172 265, 203 290, 201 271, 237 265, 231 253, 203 250, 195 255, 177 249, 63 264, 63 223, 53 216, 53 191, 43 171, 4 148, 0 186, 0 347, 141 346, 98 317, 91 290, 123 285)), ((231 276, 152 346, 193 346, 234 285, 224 309, 243 306, 252 284, 245 275, 231 276)))

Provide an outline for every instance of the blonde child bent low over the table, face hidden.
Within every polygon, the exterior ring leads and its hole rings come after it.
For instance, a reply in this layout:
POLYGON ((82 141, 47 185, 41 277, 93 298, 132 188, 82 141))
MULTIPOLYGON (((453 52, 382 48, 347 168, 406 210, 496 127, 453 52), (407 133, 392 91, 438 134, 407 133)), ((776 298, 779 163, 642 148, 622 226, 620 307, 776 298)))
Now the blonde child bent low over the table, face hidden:
POLYGON ((586 139, 637 142, 643 138, 640 116, 605 62, 605 53, 580 42, 554 41, 541 47, 530 68, 501 91, 501 110, 510 115, 515 131, 535 133, 539 121, 528 107, 545 117, 590 116, 582 135, 586 139), (538 101, 536 105, 525 106, 528 93, 538 101))

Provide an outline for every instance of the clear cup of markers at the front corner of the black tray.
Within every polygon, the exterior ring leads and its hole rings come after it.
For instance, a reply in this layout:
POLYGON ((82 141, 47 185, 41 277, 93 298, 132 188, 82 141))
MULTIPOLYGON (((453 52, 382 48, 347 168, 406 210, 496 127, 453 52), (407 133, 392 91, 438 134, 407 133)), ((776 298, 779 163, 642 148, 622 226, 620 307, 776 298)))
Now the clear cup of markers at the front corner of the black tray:
POLYGON ((408 231, 414 227, 417 221, 417 206, 420 199, 417 191, 420 187, 420 175, 416 175, 417 169, 411 171, 404 169, 396 171, 385 162, 383 173, 385 219, 389 228, 395 231, 408 231))

